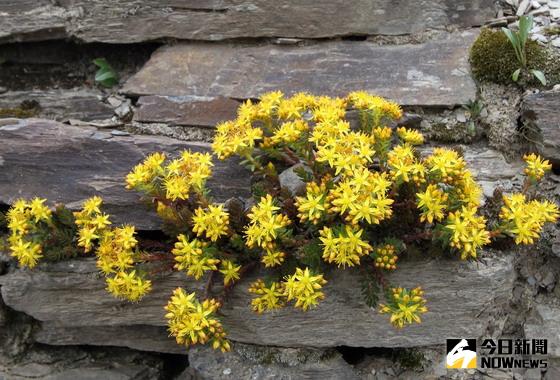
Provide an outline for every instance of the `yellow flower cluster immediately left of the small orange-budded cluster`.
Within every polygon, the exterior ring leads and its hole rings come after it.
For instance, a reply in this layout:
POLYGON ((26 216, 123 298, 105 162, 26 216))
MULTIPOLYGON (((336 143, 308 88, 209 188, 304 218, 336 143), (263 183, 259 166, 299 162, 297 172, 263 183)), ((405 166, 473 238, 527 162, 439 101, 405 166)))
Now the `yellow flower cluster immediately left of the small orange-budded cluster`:
POLYGON ((360 264, 360 257, 371 252, 372 246, 362 239, 364 231, 345 225, 341 228, 323 227, 320 240, 323 245, 323 260, 339 267, 360 264))

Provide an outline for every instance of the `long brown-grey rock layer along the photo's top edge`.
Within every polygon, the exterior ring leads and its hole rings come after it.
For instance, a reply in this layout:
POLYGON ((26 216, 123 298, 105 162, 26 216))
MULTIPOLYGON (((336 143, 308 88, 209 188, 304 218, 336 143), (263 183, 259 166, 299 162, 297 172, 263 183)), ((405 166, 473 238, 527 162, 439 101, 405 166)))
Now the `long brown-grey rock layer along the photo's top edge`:
POLYGON ((4 0, 0 41, 74 37, 131 43, 163 38, 326 38, 402 35, 448 26, 471 27, 494 17, 492 0, 4 0))

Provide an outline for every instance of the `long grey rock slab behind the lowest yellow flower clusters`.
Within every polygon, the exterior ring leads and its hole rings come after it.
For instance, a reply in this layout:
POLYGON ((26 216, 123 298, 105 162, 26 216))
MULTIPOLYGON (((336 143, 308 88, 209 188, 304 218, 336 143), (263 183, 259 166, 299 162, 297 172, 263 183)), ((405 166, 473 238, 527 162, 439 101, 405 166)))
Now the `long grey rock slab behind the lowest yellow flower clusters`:
MULTIPOLYGON (((500 308, 511 296, 514 269, 511 257, 504 255, 478 264, 443 259, 403 260, 389 281, 407 287, 422 285, 430 312, 422 324, 399 331, 388 327, 386 316, 364 304, 360 276, 351 270, 328 273, 326 299, 307 313, 287 307, 274 313, 254 314, 250 310, 252 295, 247 291, 248 282, 254 281, 254 277, 240 283, 221 309, 233 341, 284 347, 413 347, 441 344, 442 336, 483 334, 493 319, 488 314, 490 310, 500 308)), ((174 272, 156 279, 153 291, 141 302, 132 304, 106 293, 92 259, 42 264, 34 271, 16 270, 0 276, 6 305, 43 322, 41 341, 118 344, 143 350, 147 340, 138 343, 138 337, 129 339, 127 334, 134 327, 164 326, 163 306, 178 286, 202 294, 204 281, 195 282, 184 273, 174 272), (68 329, 64 333, 48 332, 49 326, 68 329), (81 329, 83 326, 88 328, 81 329), (95 336, 97 327, 102 331, 99 337, 95 336), (104 330, 106 327, 111 329, 104 330), (120 332, 117 327, 124 329, 120 332), (101 338, 109 333, 114 338, 103 343, 101 338)), ((150 339, 149 336, 151 333, 144 339, 150 339)), ((156 341, 154 349, 162 349, 161 339, 156 341)), ((169 344, 175 344, 171 338, 169 344)), ((172 348, 164 349, 174 352, 172 348)))

